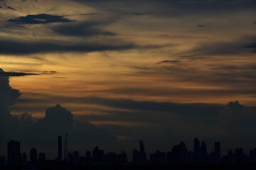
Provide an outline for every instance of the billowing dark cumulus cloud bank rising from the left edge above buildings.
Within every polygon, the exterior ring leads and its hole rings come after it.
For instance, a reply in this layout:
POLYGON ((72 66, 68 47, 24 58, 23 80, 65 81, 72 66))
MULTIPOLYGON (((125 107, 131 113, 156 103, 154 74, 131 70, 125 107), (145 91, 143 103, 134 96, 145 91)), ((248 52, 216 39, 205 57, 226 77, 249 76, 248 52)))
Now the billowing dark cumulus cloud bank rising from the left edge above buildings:
POLYGON ((56 137, 66 132, 70 134, 70 142, 80 146, 117 142, 116 137, 86 120, 75 120, 73 114, 60 105, 48 108, 46 116, 37 121, 28 113, 11 115, 9 106, 14 105, 21 94, 9 86, 9 77, 0 77, 0 94, 0 147, 6 147, 6 142, 12 139, 21 141, 23 147, 55 146, 56 137))

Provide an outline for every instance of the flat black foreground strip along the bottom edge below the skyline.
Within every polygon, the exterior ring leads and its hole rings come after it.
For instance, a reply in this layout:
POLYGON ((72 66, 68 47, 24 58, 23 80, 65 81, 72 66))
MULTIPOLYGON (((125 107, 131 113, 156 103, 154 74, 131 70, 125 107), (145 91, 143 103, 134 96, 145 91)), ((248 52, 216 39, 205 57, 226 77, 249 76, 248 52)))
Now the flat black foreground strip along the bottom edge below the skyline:
POLYGON ((176 169, 196 169, 196 170, 219 170, 219 169, 255 169, 256 164, 186 164, 186 165, 166 165, 166 166, 38 166, 38 167, 25 167, 25 166, 0 166, 3 170, 23 170, 23 169, 38 169, 38 170, 176 170, 176 169))

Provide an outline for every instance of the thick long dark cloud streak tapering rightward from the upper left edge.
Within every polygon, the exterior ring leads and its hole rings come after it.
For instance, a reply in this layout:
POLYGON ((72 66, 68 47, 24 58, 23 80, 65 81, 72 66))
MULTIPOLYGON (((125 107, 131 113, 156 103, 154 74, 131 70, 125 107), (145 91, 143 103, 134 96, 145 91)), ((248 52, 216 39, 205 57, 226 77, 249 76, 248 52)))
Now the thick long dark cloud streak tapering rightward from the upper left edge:
POLYGON ((0 40, 0 54, 6 55, 29 55, 33 53, 48 52, 101 52, 107 50, 129 50, 137 48, 133 44, 105 45, 89 42, 37 42, 37 41, 18 41, 0 40))

